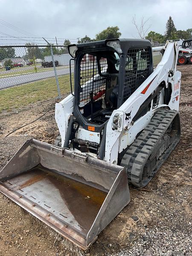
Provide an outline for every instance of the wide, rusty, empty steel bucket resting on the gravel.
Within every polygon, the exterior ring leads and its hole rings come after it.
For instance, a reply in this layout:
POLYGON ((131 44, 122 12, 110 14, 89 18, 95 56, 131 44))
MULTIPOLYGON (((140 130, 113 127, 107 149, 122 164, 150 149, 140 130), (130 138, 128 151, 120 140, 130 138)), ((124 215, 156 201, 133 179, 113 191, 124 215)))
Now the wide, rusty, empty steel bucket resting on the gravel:
POLYGON ((123 167, 38 140, 1 170, 0 192, 82 249, 130 201, 123 167))

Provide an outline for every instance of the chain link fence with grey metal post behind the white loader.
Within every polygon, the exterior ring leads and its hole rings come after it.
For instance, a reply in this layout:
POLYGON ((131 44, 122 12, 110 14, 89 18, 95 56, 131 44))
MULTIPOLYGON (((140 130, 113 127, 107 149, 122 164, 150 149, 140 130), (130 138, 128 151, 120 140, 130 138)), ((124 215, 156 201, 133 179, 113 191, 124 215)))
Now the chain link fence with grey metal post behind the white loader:
MULTIPOLYGON (((64 45, 0 46, 0 113, 69 93, 70 58, 64 45)), ((160 52, 153 52, 155 67, 161 58, 160 52)), ((85 63, 92 69, 93 59, 86 55, 81 71, 85 63)))

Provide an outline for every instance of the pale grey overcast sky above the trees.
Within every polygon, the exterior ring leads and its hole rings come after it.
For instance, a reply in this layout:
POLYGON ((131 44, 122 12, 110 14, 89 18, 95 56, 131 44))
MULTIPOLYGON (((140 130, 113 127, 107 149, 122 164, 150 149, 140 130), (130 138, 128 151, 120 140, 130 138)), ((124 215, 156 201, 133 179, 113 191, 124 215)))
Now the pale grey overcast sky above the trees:
MULTIPOLYGON (((94 38, 119 26, 121 37, 136 38, 134 15, 138 23, 141 16, 150 17, 149 31, 164 34, 169 16, 177 30, 186 30, 192 28, 192 0, 0 0, 1 20, 40 37, 94 38)), ((0 32, 25 36, 1 23, 0 32)))

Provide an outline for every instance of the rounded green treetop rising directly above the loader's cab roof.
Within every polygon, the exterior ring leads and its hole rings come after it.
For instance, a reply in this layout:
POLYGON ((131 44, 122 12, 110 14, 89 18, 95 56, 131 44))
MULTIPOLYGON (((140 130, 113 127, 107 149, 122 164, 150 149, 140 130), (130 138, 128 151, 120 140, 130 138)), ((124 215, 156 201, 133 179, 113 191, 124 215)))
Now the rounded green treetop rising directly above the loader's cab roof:
POLYGON ((121 32, 119 32, 119 27, 111 26, 111 27, 108 27, 107 29, 104 29, 99 34, 96 34, 96 41, 119 38, 119 36, 121 36, 121 32))

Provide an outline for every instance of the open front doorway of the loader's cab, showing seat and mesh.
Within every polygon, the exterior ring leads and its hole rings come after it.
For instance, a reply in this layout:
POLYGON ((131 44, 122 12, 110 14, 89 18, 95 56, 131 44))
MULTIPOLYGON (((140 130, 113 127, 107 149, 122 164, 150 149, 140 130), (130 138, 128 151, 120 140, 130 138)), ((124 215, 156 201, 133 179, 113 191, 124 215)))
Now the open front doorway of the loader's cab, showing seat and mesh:
POLYGON ((82 116, 102 124, 117 108, 119 55, 111 50, 81 56, 78 106, 82 116))

